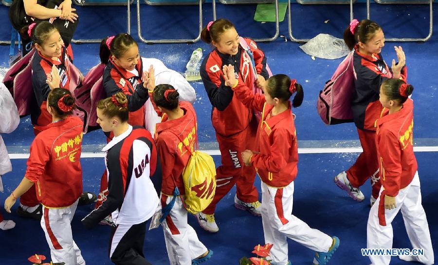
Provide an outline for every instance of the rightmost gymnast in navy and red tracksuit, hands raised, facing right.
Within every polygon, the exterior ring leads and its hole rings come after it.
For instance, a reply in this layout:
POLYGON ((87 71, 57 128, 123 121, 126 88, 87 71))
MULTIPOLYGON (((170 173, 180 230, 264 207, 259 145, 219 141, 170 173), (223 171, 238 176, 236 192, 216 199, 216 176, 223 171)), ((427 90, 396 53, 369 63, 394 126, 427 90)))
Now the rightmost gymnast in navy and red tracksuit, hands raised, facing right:
POLYGON ((396 64, 396 61, 392 60, 392 66, 389 68, 381 53, 385 42, 382 28, 368 19, 360 22, 356 19, 351 21, 344 32, 344 40, 350 50, 354 49, 353 67, 356 78, 351 108, 363 152, 354 165, 339 173, 334 181, 341 189, 347 191, 351 198, 363 201, 365 196, 359 187, 371 178, 370 204, 373 205, 381 187, 375 143, 375 123, 382 112, 379 89, 382 82, 388 78, 406 80, 405 55, 402 47, 394 47, 399 62, 396 64))

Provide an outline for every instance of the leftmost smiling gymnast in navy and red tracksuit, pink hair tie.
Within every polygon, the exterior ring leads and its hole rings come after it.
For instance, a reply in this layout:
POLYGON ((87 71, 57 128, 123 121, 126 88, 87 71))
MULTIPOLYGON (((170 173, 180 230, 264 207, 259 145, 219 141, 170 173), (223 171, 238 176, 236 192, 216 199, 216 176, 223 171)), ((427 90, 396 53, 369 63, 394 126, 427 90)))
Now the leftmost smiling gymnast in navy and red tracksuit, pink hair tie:
MULTIPOLYGON (((35 99, 31 101, 31 120, 37 135, 52 122, 52 115, 47 111, 47 97, 50 91, 58 87, 69 89, 71 69, 67 63, 67 60, 70 60, 67 49, 53 24, 46 21, 33 23, 29 26, 28 33, 36 49, 32 62, 32 86, 35 99), (47 83, 52 72, 57 72, 59 75, 58 83, 47 83)), ((38 220, 41 218, 41 206, 35 188, 29 189, 21 196, 17 213, 23 217, 33 217, 38 220)))

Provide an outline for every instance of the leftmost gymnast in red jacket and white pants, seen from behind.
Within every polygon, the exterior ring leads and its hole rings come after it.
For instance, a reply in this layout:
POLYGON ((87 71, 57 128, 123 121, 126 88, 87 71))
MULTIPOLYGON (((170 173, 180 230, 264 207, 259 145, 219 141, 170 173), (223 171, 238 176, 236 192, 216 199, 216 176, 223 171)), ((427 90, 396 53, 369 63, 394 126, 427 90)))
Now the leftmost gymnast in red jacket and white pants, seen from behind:
POLYGON ((46 104, 52 123, 37 127, 41 132, 32 142, 26 174, 6 199, 5 209, 10 213, 16 199, 35 183, 38 199, 43 204, 41 227, 46 234, 52 261, 84 265, 70 225, 82 193, 83 122, 70 116, 74 99, 66 89, 53 89, 46 104))

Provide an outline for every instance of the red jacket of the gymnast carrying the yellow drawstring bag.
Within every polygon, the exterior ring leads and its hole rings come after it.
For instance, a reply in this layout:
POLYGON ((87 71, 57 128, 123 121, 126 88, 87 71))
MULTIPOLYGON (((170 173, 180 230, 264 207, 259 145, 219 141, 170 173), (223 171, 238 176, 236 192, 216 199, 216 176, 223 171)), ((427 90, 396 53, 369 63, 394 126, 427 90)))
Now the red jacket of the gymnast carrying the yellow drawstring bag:
POLYGON ((175 183, 181 194, 184 194, 183 170, 187 166, 190 152, 184 147, 187 145, 191 151, 195 151, 194 145, 197 139, 196 113, 192 104, 181 101, 180 108, 184 116, 174 120, 167 120, 163 115, 162 122, 157 124, 155 143, 163 161, 163 184, 161 191, 164 195, 173 196, 175 183), (178 135, 184 142, 175 135, 178 135), (173 182, 175 180, 175 182, 173 182))

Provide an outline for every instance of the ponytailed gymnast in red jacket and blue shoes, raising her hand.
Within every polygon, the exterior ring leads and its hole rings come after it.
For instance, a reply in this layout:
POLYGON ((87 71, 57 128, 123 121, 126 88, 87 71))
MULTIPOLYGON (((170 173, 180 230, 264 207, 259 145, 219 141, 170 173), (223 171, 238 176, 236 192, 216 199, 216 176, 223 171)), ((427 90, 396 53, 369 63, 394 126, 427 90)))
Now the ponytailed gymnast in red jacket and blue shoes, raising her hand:
POLYGON ((234 67, 223 66, 225 83, 248 108, 262 112, 256 151, 245 150, 242 160, 256 168, 262 190, 261 215, 265 244, 273 244, 270 259, 275 265, 290 265, 287 238, 317 251, 313 264, 325 265, 339 246, 339 238, 311 229, 292 215, 293 181, 297 175, 298 147, 292 106, 301 105, 303 87, 286 75, 274 75, 255 94, 235 78, 234 67), (292 104, 290 97, 295 94, 292 104))

